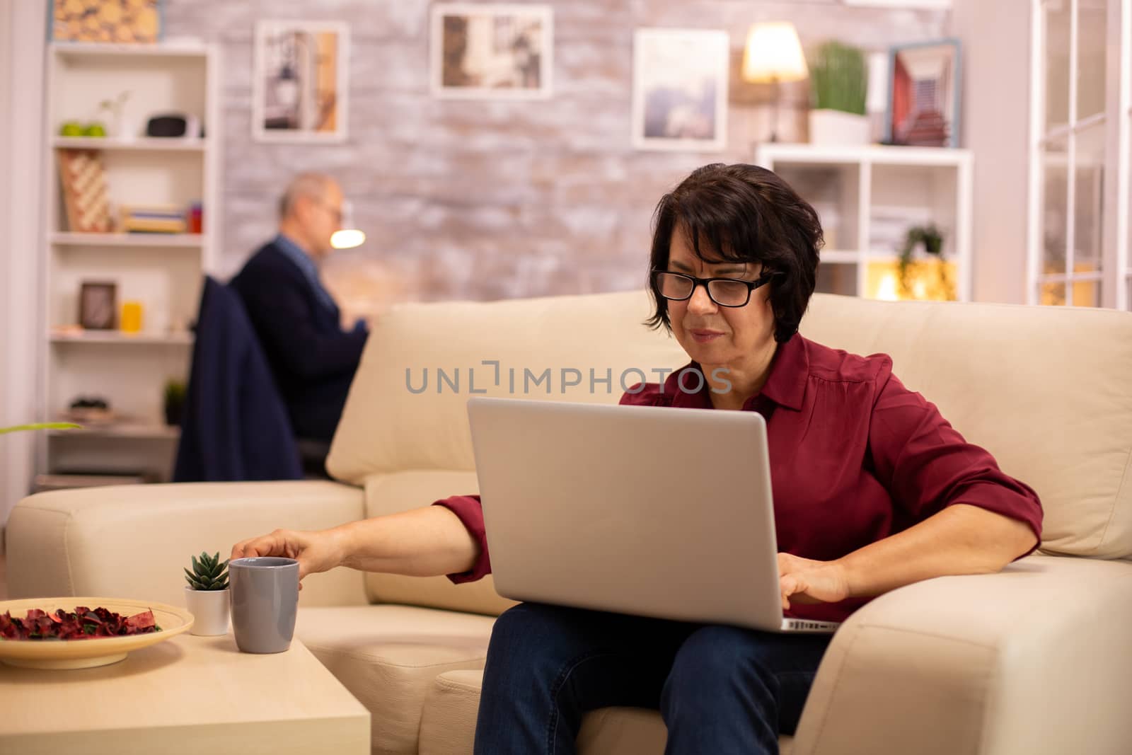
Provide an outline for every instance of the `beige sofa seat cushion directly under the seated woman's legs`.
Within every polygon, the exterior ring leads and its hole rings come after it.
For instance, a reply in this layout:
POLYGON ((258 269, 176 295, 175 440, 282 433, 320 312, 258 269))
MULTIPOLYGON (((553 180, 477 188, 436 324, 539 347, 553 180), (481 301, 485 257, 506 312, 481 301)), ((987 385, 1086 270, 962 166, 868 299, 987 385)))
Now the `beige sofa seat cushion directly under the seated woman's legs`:
MULTIPOLYGON (((432 683, 421 713, 420 755, 471 755, 483 671, 445 671, 432 683)), ((661 755, 668 735, 658 711, 602 707, 582 720, 578 755, 661 755)), ((790 755, 792 737, 779 737, 790 755)))

